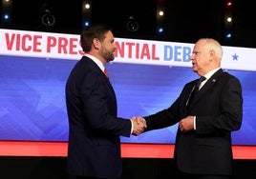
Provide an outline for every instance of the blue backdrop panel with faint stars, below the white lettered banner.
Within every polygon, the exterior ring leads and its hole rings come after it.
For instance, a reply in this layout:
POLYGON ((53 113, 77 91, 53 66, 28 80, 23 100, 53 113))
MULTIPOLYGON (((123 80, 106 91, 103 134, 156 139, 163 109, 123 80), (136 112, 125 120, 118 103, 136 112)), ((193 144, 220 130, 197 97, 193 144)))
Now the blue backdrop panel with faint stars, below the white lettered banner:
MULTIPOLYGON (((0 140, 67 141, 64 88, 76 60, 0 55, 0 140)), ((168 108, 185 83, 198 76, 190 68, 127 63, 107 65, 116 89, 118 116, 148 115, 168 108)), ((228 70, 243 86, 244 121, 233 144, 256 145, 256 72, 228 70)), ((177 126, 121 137, 123 143, 175 141, 177 126)))

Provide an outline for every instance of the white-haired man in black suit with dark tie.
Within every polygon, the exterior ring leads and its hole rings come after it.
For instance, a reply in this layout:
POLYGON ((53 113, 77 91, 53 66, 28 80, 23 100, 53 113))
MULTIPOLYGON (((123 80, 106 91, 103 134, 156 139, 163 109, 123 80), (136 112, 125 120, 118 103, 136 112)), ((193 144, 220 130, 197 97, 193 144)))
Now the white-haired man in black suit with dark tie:
POLYGON ((200 39, 191 61, 203 82, 187 83, 168 109, 138 117, 146 123, 145 131, 179 123, 174 153, 179 179, 232 177, 231 131, 241 128, 243 96, 240 81, 221 69, 222 56, 216 40, 200 39))

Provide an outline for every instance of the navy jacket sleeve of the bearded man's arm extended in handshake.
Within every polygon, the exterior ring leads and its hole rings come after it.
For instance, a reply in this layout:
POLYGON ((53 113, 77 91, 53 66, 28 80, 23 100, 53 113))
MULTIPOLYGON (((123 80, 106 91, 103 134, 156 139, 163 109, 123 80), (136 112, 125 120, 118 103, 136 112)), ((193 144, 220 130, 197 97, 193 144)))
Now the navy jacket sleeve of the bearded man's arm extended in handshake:
POLYGON ((94 132, 130 136, 131 121, 117 117, 117 99, 109 82, 96 73, 86 76, 82 87, 84 111, 94 132))

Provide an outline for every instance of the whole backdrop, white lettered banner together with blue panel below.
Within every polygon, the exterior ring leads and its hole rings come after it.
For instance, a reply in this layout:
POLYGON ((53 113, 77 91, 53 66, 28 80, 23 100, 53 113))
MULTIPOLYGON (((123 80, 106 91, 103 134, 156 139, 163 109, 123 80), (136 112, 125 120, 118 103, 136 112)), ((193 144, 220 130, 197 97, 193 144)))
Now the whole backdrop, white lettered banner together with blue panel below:
MULTIPOLYGON (((0 140, 64 141, 69 126, 66 80, 81 58, 79 35, 0 29, 0 140)), ((116 38, 115 61, 107 64, 117 93, 117 114, 129 119, 166 109, 183 86, 198 75, 191 70, 188 43, 116 38)), ((222 67, 243 87, 242 129, 234 145, 256 146, 256 49, 223 47, 222 67)), ((177 125, 121 137, 122 143, 174 144, 177 125)))

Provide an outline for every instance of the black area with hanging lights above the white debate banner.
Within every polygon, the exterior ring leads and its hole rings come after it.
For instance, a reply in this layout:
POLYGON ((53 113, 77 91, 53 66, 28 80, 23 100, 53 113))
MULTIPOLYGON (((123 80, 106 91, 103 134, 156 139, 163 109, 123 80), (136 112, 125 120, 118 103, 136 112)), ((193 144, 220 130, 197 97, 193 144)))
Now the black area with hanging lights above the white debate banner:
MULTIPOLYGON (((11 24, 1 28, 79 33, 82 28, 82 0, 12 0, 11 24), (47 4, 55 16, 52 27, 42 25, 42 8, 47 4)), ((223 45, 256 48, 254 7, 233 0, 233 38, 224 38, 224 0, 165 0, 165 33, 156 34, 156 0, 92 0, 92 22, 113 26, 116 37, 194 43, 212 37, 223 45), (134 16, 139 30, 126 29, 128 16, 134 16)))

